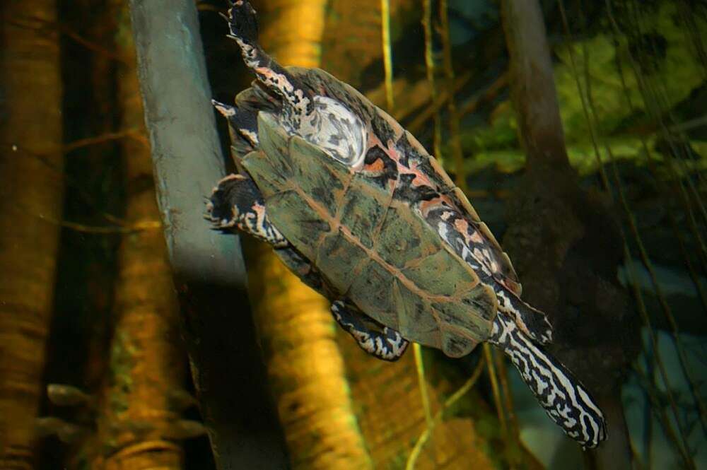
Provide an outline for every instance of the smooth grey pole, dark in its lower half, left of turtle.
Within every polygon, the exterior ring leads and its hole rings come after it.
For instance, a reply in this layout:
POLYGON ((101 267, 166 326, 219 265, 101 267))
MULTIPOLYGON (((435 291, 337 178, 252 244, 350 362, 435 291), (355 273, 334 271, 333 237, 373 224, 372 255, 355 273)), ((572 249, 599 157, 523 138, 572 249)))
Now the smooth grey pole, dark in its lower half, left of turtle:
POLYGON ((237 237, 204 221, 223 177, 192 0, 130 1, 160 215, 201 413, 221 470, 283 468, 237 237))

